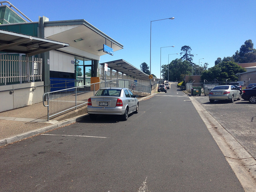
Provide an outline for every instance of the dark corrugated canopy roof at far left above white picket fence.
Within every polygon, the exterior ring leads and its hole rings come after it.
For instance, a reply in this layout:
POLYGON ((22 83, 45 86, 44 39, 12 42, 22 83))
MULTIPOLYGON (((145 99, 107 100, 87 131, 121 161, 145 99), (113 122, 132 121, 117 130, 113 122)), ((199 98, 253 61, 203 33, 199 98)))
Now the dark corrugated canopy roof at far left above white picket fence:
POLYGON ((2 52, 23 53, 27 56, 33 56, 66 46, 69 44, 0 30, 0 51, 2 52))

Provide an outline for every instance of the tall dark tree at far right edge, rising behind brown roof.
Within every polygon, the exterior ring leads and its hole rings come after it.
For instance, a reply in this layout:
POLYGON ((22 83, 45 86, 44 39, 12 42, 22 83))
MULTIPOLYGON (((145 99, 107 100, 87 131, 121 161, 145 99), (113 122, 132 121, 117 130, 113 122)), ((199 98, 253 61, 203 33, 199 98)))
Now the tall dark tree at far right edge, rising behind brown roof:
POLYGON ((232 57, 238 63, 256 62, 256 49, 253 48, 252 40, 246 40, 240 47, 240 51, 237 50, 232 57))

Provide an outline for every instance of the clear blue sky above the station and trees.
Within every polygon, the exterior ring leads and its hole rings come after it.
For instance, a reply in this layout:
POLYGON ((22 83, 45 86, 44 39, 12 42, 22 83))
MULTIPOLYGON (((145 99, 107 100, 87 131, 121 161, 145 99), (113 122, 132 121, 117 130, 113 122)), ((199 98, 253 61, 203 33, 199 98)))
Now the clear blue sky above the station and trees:
POLYGON ((136 68, 150 66, 150 21, 152 22, 151 71, 160 77, 161 64, 180 58, 181 47, 190 46, 194 62, 214 66, 220 57, 232 56, 251 39, 256 48, 255 0, 10 0, 32 21, 46 16, 50 21, 84 19, 124 46, 100 63, 124 59, 136 68), (179 53, 176 55, 175 53, 179 53), (169 55, 172 54, 172 55, 169 55), (196 55, 197 54, 197 55, 196 55))

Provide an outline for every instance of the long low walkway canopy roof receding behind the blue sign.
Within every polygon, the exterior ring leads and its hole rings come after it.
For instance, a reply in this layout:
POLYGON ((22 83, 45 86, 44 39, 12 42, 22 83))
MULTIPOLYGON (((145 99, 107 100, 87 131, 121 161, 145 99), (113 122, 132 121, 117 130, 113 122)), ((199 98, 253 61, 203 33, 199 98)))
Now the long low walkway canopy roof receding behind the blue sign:
MULTIPOLYGON (((148 74, 132 66, 130 63, 126 62, 125 60, 120 59, 120 60, 115 60, 115 61, 110 61, 105 63, 108 64, 108 68, 110 68, 111 70, 122 72, 123 74, 131 76, 133 78, 150 80, 148 78, 149 76, 148 74)), ((100 65, 104 66, 105 63, 100 63, 100 65)))

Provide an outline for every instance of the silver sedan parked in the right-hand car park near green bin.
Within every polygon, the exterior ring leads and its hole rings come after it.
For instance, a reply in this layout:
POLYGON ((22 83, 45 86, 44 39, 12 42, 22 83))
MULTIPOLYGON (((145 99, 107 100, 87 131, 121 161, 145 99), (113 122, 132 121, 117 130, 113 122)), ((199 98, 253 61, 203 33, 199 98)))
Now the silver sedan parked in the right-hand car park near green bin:
POLYGON ((209 92, 209 100, 211 103, 213 103, 214 100, 229 100, 230 102, 234 102, 234 99, 241 99, 241 92, 234 85, 215 86, 209 92))

